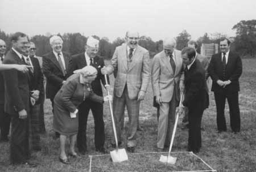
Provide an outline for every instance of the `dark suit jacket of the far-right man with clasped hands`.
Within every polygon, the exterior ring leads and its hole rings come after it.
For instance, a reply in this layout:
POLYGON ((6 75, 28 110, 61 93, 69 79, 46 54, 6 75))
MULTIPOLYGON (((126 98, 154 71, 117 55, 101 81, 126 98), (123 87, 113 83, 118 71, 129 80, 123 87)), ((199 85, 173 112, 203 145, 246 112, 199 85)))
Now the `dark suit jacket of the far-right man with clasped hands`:
POLYGON ((225 88, 217 84, 217 80, 223 78, 223 66, 221 53, 214 54, 209 64, 209 75, 212 78, 212 91, 226 91, 228 93, 240 91, 239 78, 242 75, 242 60, 240 56, 232 51, 229 51, 228 63, 226 64, 226 79, 231 83, 225 88))

